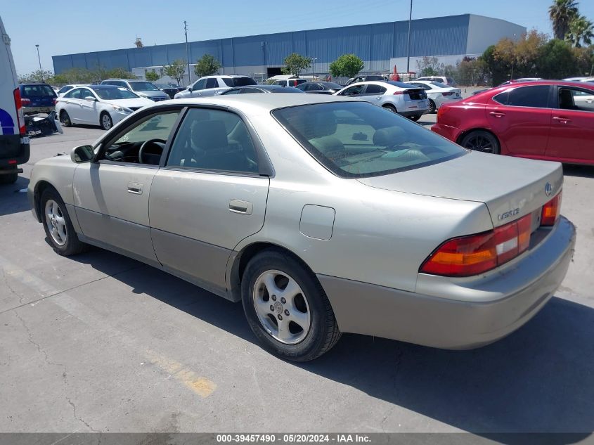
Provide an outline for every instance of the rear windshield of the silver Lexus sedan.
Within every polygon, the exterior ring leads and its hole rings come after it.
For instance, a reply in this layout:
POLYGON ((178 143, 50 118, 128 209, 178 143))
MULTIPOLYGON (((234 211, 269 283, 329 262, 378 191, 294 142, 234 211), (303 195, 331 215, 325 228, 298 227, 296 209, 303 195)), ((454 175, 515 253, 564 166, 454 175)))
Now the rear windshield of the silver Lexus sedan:
POLYGON ((299 105, 272 115, 322 165, 344 178, 416 169, 467 153, 406 117, 369 103, 299 105))

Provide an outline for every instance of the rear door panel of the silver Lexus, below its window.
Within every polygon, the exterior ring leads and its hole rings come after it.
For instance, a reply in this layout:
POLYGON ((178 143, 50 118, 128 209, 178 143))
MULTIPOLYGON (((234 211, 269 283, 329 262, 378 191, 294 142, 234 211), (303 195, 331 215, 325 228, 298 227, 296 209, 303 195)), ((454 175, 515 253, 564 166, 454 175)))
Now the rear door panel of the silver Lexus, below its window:
POLYGON ((165 268, 221 293, 231 252, 264 225, 268 189, 266 177, 161 169, 149 203, 157 258, 165 268), (245 212, 234 200, 247 203, 245 212))

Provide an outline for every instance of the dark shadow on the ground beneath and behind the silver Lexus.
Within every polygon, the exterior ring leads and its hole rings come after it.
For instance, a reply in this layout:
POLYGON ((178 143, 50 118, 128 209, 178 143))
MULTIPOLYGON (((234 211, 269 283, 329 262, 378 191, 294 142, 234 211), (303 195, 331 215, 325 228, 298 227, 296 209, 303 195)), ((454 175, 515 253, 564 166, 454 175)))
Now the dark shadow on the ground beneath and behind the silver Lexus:
MULTIPOLYGON (((257 344, 239 303, 110 252, 72 258, 110 275, 120 263, 125 270, 113 277, 134 292, 257 344)), ((376 310, 361 316, 373 323, 376 310)), ((446 351, 344 334, 324 356, 293 365, 503 443, 526 441, 493 433, 584 432, 578 435, 583 439, 594 431, 594 309, 558 297, 515 333, 479 349, 446 351)), ((389 411, 377 423, 386 420, 389 411)), ((561 435, 545 443, 573 439, 561 435)))

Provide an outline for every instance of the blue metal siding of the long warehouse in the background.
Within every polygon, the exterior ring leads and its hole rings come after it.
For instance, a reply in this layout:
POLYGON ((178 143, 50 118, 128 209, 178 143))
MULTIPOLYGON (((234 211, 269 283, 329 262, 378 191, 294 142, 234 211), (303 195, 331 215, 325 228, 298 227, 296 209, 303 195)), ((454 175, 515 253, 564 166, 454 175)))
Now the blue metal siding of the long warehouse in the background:
MULTIPOLYGON (((413 20, 411 56, 446 56, 464 54, 467 47, 470 15, 413 20)), ((282 65, 290 53, 317 58, 327 64, 344 53, 354 53, 366 62, 366 70, 385 70, 390 58, 406 56, 408 22, 385 22, 372 25, 282 32, 259 36, 193 41, 189 44, 191 63, 204 54, 212 54, 224 67, 282 65)), ((186 44, 169 44, 54 56, 56 73, 70 67, 107 69, 166 65, 186 60, 186 44)))

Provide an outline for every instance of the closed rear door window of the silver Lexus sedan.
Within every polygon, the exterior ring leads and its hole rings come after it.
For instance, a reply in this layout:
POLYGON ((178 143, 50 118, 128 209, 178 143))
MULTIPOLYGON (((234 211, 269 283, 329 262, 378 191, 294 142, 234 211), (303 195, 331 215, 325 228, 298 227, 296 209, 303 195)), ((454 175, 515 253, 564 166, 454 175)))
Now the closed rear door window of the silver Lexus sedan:
POLYGON ((258 172, 257 153, 243 120, 233 112, 203 108, 192 108, 186 113, 167 167, 258 172))

